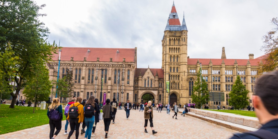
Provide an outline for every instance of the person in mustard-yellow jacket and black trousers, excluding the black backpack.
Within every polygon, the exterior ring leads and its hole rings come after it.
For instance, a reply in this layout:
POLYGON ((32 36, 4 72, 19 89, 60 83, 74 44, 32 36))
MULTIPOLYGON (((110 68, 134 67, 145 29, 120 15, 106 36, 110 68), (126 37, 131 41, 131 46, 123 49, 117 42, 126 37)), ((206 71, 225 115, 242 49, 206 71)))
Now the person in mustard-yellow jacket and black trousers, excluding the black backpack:
POLYGON ((69 115, 67 117, 67 120, 69 121, 69 126, 70 126, 70 132, 68 135, 68 139, 71 137, 74 130, 76 131, 75 138, 78 139, 79 126, 80 126, 80 123, 82 124, 83 120, 84 120, 84 107, 83 107, 83 105, 81 105, 81 101, 82 101, 82 98, 78 97, 78 98, 76 98, 76 103, 71 104, 69 107, 69 109, 70 109, 74 105, 78 108, 78 117, 77 118, 69 118, 69 115))

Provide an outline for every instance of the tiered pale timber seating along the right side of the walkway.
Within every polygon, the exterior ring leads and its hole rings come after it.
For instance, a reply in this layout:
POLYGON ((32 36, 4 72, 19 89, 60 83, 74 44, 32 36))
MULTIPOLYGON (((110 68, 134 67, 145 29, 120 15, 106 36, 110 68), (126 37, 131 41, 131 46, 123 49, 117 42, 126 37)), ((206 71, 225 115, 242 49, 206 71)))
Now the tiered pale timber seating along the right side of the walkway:
POLYGON ((262 126, 256 117, 236 115, 233 113, 190 108, 190 112, 187 115, 240 132, 256 131, 262 126))

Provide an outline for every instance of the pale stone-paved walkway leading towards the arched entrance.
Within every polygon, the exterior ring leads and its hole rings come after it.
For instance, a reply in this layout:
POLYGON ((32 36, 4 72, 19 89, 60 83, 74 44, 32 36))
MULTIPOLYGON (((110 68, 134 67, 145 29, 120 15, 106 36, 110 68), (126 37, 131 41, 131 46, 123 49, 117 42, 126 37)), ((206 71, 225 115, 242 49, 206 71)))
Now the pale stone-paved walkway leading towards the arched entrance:
MULTIPOLYGON (((124 110, 117 110, 115 124, 111 122, 108 138, 230 138, 232 130, 220 128, 216 125, 212 125, 206 121, 198 120, 191 116, 182 116, 178 113, 177 120, 173 119, 173 112, 170 115, 166 114, 166 111, 158 113, 154 109, 153 113, 153 125, 155 131, 158 133, 152 135, 152 130, 148 123, 148 133, 144 132, 144 113, 138 110, 131 110, 129 119, 126 120, 126 114, 124 110)), ((174 117, 175 118, 175 117, 174 117)), ((56 139, 66 139, 67 135, 64 133, 64 125, 66 121, 62 121, 62 130, 56 137, 56 139)), ((26 123, 32 124, 32 123, 26 123)), ((81 127, 81 126, 80 126, 81 127)), ((80 128, 81 129, 81 128, 80 128)), ((68 126, 68 131, 70 130, 68 126)), ((14 138, 49 138, 49 125, 37 126, 25 130, 20 130, 12 133, 0 135, 1 139, 14 139, 14 138)), ((91 138, 104 138, 104 124, 103 120, 96 126, 96 136, 91 138)), ((79 135, 79 138, 83 139, 83 135, 79 135)), ((71 136, 71 139, 75 138, 75 132, 71 136)))

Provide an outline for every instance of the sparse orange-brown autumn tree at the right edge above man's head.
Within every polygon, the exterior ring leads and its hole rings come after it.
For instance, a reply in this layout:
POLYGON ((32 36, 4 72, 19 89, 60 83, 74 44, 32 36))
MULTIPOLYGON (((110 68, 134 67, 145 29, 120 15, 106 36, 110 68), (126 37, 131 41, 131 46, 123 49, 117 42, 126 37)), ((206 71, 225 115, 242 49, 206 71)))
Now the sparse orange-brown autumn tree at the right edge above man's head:
POLYGON ((278 18, 272 18, 271 23, 275 27, 263 36, 264 45, 261 50, 264 50, 267 55, 260 63, 261 68, 259 69, 259 73, 273 71, 278 68, 278 18))

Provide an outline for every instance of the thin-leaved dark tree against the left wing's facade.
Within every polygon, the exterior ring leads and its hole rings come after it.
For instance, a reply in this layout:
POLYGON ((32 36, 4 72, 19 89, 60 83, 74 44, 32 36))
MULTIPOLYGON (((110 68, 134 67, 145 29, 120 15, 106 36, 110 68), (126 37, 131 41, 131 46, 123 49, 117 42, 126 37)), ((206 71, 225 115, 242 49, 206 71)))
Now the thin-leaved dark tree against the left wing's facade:
POLYGON ((59 79, 58 83, 56 81, 55 85, 58 85, 57 97, 69 98, 72 95, 74 83, 73 83, 73 71, 66 70, 66 75, 64 78, 59 79))

